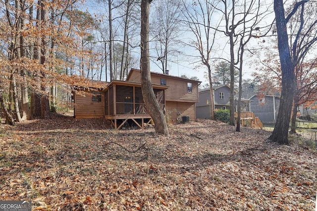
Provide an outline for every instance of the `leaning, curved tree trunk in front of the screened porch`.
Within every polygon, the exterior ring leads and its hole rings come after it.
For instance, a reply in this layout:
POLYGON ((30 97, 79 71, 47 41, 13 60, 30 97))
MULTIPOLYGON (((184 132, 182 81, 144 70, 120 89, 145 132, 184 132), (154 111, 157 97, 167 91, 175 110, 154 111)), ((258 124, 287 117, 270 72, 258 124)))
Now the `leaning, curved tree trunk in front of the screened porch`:
POLYGON ((147 111, 151 115, 156 132, 168 135, 167 124, 163 111, 153 91, 150 72, 150 53, 149 53, 149 14, 151 0, 141 1, 141 84, 142 95, 147 111))

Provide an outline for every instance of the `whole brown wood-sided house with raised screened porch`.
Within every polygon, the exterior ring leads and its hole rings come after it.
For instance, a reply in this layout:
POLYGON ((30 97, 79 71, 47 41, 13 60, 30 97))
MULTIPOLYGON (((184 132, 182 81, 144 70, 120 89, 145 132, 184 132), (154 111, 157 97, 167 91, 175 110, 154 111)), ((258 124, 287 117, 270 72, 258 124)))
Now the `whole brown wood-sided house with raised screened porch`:
MULTIPOLYGON (((196 120, 198 84, 201 82, 151 72, 153 90, 170 123, 186 116, 196 120)), ((75 118, 105 118, 114 128, 132 121, 139 127, 151 123, 141 91, 141 71, 131 69, 126 81, 111 81, 104 88, 74 91, 75 118)))

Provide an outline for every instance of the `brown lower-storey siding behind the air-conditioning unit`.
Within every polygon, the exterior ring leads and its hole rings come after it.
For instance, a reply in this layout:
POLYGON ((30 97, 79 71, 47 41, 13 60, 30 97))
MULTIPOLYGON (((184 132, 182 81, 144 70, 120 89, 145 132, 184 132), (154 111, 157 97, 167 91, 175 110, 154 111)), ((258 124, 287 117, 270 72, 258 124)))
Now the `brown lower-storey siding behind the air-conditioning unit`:
POLYGON ((170 123, 176 123, 177 117, 189 116, 190 122, 196 121, 195 103, 166 101, 165 115, 170 123), (180 112, 180 115, 177 115, 180 112))

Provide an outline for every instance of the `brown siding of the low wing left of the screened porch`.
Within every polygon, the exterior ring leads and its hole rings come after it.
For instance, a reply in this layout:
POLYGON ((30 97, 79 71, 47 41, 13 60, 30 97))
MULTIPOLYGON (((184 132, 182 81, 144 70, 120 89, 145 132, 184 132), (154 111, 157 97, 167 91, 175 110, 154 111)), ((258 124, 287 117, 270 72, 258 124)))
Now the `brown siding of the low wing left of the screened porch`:
POLYGON ((100 118, 104 117, 104 96, 101 102, 93 102, 91 100, 91 93, 81 96, 75 93, 75 118, 100 118))

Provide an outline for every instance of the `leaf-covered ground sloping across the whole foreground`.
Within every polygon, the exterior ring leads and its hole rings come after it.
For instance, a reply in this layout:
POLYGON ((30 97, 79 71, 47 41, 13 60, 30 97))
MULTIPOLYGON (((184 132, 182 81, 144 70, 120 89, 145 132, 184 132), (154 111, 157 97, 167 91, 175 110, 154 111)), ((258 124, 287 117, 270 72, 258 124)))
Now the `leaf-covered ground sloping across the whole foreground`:
POLYGON ((0 125, 1 200, 51 211, 313 211, 316 143, 219 122, 113 130, 55 115, 0 125))

